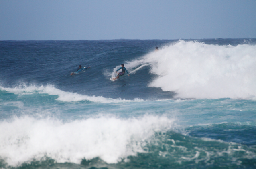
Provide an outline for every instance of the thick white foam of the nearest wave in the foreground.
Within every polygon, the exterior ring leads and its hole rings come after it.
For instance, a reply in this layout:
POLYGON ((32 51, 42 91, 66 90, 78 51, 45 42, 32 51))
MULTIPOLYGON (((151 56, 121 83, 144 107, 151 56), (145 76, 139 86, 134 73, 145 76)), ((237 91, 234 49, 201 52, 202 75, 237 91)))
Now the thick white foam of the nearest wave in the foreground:
POLYGON ((63 123, 56 119, 14 118, 0 122, 0 157, 9 165, 47 155, 57 162, 80 163, 100 157, 107 163, 143 152, 144 141, 170 129, 174 119, 145 115, 98 117, 63 123))

